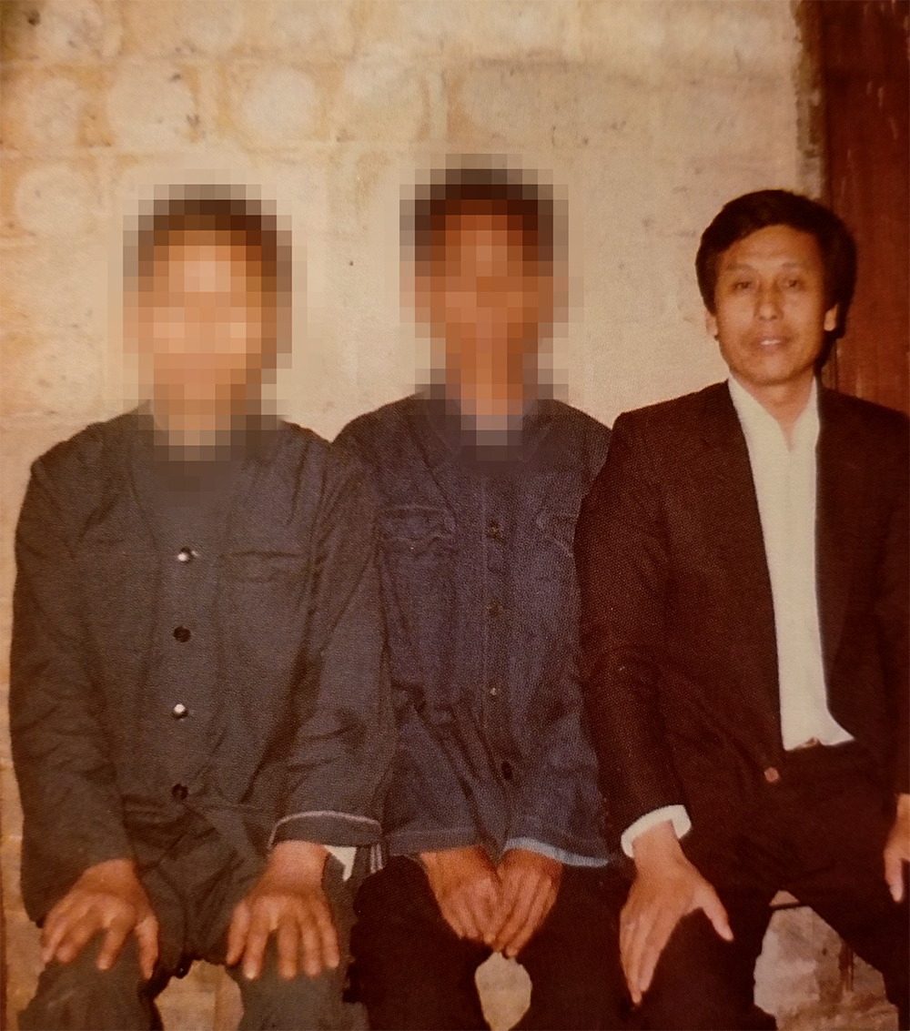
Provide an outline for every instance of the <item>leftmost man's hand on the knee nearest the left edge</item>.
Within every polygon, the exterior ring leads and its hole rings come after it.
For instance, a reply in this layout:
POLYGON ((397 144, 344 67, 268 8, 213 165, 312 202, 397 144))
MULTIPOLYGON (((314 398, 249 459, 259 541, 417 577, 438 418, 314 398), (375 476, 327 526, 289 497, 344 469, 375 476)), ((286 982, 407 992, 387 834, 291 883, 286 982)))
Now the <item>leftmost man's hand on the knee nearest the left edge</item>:
POLYGON ((41 930, 41 961, 70 963, 99 931, 104 940, 96 966, 108 970, 131 932, 139 943, 139 968, 146 979, 158 959, 158 921, 132 860, 90 866, 47 913, 41 930))

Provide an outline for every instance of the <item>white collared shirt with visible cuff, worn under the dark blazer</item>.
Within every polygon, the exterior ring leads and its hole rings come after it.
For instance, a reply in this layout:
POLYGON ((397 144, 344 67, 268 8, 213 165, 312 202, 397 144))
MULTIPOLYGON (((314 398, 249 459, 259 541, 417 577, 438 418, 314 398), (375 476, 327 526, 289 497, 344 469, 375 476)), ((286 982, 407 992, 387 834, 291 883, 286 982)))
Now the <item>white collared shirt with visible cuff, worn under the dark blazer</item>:
MULTIPOLYGON (((762 519, 762 536, 771 578, 777 642, 780 732, 784 749, 807 741, 839 744, 850 734, 831 714, 824 686, 818 597, 815 581, 815 445, 818 392, 815 383, 794 424, 790 442, 777 420, 731 376, 730 395, 739 417, 762 519)), ((622 834, 632 856, 639 834, 669 820, 677 837, 692 827, 681 805, 645 813, 622 834)))

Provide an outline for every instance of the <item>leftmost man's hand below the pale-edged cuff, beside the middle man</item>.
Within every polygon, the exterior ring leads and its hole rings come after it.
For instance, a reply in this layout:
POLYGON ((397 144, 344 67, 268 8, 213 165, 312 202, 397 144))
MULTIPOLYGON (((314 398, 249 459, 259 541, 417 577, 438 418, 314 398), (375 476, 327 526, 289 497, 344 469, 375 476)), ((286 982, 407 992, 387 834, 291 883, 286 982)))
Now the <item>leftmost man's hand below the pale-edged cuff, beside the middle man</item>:
POLYGON ((323 892, 328 852, 309 841, 280 841, 259 880, 234 909, 227 964, 243 961, 243 975, 262 973, 269 936, 275 935, 278 973, 285 980, 303 970, 317 977, 341 961, 338 932, 323 892))

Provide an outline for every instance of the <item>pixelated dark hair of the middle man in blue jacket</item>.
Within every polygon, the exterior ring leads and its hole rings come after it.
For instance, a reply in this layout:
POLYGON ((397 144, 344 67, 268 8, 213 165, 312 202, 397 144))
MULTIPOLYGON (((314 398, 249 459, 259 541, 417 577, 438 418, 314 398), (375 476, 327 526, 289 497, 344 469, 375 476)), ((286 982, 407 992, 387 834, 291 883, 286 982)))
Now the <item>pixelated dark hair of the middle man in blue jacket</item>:
POLYGON ((550 187, 517 169, 456 167, 434 172, 429 185, 416 187, 413 201, 402 201, 401 240, 417 266, 444 254, 446 219, 466 203, 490 204, 504 212, 509 227, 520 229, 526 260, 537 262, 541 270, 562 256, 566 233, 555 228, 550 187))

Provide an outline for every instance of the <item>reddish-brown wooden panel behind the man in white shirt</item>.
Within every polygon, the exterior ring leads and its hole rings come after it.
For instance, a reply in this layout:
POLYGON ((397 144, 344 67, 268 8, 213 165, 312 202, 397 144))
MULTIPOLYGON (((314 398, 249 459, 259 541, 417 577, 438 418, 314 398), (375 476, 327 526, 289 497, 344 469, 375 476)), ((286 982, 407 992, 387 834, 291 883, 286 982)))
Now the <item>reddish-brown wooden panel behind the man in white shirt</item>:
POLYGON ((847 393, 910 412, 910 3, 814 6, 828 200, 860 255, 847 333, 828 377, 847 393))

